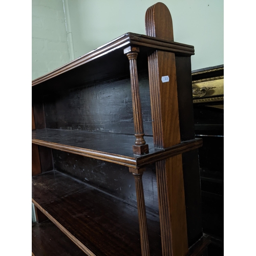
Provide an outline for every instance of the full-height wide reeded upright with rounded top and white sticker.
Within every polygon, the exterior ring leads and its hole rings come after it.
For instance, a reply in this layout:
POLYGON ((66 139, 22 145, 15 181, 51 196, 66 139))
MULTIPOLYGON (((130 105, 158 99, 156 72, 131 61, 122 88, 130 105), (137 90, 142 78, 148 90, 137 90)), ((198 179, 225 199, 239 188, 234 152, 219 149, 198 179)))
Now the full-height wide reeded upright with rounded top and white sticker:
MULTIPOLYGON (((157 3, 147 9, 146 35, 173 40, 168 8, 157 3)), ((180 143, 175 54, 155 51, 148 56, 154 146, 180 143)), ((164 256, 188 253, 182 156, 156 163, 162 252, 164 256)))

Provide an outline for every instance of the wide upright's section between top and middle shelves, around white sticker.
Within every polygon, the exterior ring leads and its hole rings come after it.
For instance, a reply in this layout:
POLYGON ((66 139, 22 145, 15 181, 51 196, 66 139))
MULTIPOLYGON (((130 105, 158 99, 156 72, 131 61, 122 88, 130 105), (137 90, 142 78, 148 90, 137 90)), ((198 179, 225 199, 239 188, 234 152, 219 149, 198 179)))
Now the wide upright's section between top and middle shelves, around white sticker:
POLYGON ((156 51, 148 56, 154 144, 164 148, 180 143, 175 55, 156 51), (162 82, 168 76, 168 82, 162 82))

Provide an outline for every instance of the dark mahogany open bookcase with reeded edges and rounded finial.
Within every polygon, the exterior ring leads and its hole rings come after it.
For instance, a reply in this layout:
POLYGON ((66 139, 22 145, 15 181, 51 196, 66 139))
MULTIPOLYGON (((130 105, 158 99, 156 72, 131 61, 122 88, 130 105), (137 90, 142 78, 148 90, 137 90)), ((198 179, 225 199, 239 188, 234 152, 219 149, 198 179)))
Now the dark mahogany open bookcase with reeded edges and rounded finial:
POLYGON ((33 255, 207 255, 194 47, 145 24, 32 81, 33 255))

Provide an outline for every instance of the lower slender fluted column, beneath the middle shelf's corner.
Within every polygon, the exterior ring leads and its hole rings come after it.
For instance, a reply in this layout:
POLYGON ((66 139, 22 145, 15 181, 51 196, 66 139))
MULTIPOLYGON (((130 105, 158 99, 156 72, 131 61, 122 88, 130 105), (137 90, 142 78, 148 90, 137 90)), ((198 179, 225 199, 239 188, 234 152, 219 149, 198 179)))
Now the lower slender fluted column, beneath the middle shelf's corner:
POLYGON ((140 173, 138 173, 138 169, 134 169, 131 167, 129 168, 129 170, 130 170, 130 173, 133 174, 135 179, 138 216, 139 216, 139 228, 140 228, 141 253, 142 253, 142 256, 150 256, 150 247, 149 247, 148 235, 147 235, 146 207, 145 207, 144 191, 143 191, 143 184, 142 184, 142 175, 145 168, 140 169, 140 173))

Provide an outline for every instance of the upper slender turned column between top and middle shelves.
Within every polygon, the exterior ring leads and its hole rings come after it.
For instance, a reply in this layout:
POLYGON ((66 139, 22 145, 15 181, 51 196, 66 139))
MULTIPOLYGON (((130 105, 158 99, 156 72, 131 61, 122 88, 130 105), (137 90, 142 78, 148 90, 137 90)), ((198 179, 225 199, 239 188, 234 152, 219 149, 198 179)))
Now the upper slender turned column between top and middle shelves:
POLYGON ((132 101, 133 101, 133 118, 134 118, 134 130, 135 130, 135 145, 133 145, 133 153, 135 155, 144 155, 148 153, 148 145, 144 140, 143 120, 140 103, 140 91, 137 71, 137 56, 139 48, 129 46, 124 49, 123 53, 129 59, 130 62, 130 75, 131 75, 131 89, 132 89, 132 101))

